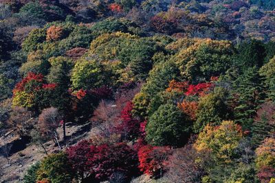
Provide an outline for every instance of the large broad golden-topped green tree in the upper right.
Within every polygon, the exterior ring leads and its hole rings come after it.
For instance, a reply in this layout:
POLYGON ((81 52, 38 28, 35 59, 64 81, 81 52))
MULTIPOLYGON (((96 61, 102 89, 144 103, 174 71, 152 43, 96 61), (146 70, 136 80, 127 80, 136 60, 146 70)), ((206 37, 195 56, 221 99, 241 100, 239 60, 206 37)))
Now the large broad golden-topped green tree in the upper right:
POLYGON ((173 58, 190 82, 209 81, 225 73, 232 63, 234 49, 225 40, 197 40, 188 49, 181 49, 173 58))

